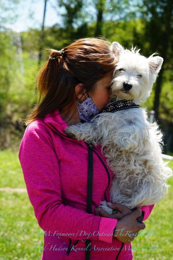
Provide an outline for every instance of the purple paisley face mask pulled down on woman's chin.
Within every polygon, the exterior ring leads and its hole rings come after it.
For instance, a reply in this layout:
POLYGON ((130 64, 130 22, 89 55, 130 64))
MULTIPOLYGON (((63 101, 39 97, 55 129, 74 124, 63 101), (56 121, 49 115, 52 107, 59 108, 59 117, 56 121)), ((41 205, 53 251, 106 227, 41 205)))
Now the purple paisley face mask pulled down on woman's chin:
POLYGON ((81 104, 76 100, 79 118, 85 122, 89 122, 95 115, 99 113, 91 97, 83 101, 81 104))

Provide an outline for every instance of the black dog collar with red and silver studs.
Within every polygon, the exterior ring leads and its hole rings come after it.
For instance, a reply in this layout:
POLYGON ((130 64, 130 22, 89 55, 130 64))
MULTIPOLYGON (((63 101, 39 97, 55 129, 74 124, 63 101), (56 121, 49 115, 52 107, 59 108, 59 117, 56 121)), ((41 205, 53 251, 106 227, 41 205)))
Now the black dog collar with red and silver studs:
POLYGON ((119 100, 119 101, 114 101, 112 103, 110 103, 109 105, 107 105, 102 111, 101 113, 114 113, 116 111, 120 111, 123 109, 128 109, 128 108, 139 108, 140 106, 133 103, 130 100, 119 100))

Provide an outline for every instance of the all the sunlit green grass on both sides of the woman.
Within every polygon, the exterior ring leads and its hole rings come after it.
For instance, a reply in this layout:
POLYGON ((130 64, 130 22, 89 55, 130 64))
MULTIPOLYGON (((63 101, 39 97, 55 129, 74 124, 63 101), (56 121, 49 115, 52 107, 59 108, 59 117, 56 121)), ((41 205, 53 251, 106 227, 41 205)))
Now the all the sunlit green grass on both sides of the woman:
MULTIPOLYGON (((173 161, 170 166, 173 169, 173 161)), ((26 187, 18 151, 0 151, 0 173, 1 187, 26 187)), ((173 178, 169 184, 173 186, 173 178)), ((134 260, 173 259, 172 201, 173 187, 170 187, 166 199, 155 205, 145 221, 141 236, 132 242, 134 260)), ((42 251, 36 251, 35 246, 43 247, 44 236, 27 193, 0 191, 0 205, 0 260, 40 260, 42 251)))

